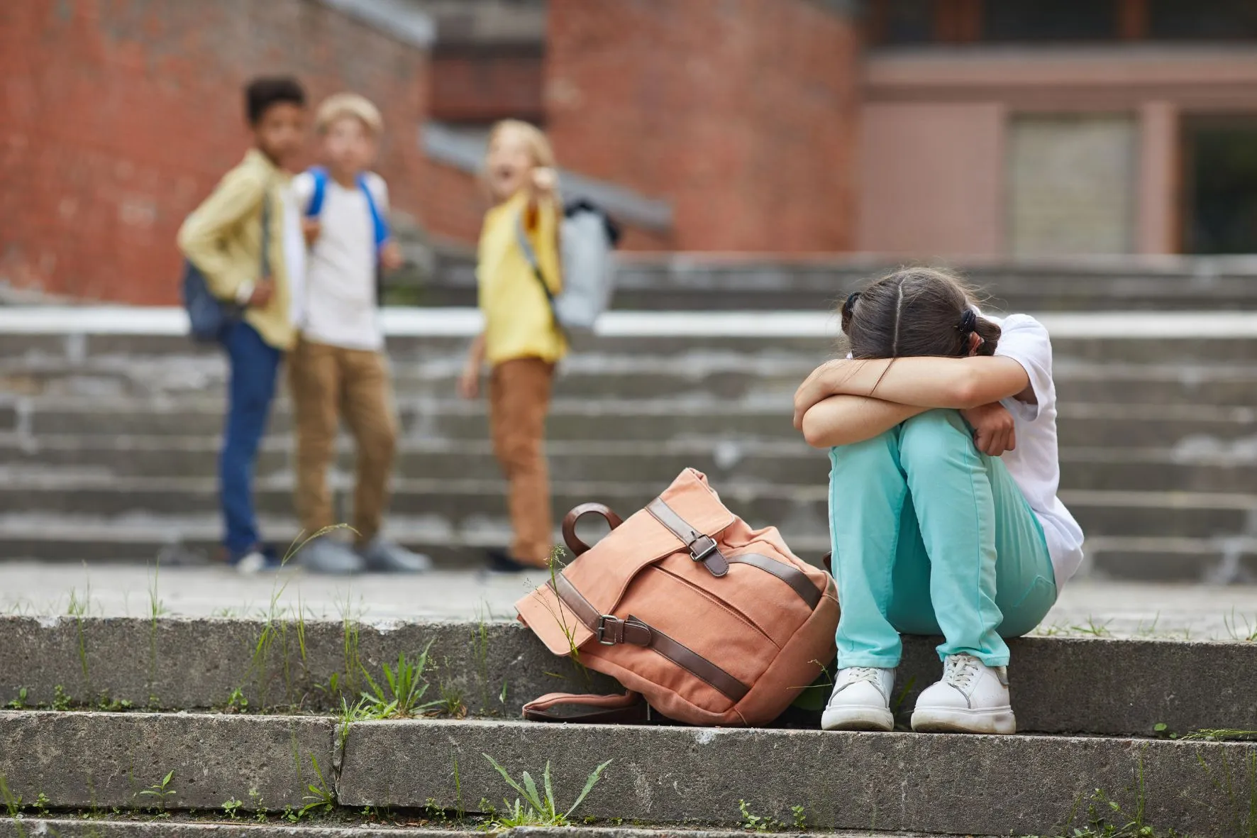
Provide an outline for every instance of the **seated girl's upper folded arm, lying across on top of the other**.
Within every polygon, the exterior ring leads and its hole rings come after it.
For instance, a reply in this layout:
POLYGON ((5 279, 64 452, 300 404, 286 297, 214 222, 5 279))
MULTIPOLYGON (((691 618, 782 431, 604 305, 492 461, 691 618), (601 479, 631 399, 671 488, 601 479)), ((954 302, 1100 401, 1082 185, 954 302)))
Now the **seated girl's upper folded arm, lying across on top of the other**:
POLYGON ((840 360, 817 367, 794 394, 796 425, 832 395, 872 396, 918 408, 965 410, 1009 396, 1035 401, 1024 367, 1011 357, 840 360))

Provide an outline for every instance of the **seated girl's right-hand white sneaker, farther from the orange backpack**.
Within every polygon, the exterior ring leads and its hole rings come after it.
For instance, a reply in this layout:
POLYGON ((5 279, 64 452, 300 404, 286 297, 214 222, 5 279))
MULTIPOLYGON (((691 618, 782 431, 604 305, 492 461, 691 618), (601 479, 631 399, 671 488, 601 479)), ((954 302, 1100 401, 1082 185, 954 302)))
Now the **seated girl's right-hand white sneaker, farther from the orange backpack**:
POLYGON ((972 654, 949 654, 943 679, 926 688, 913 711, 913 730, 935 734, 1016 734, 1008 668, 972 654))

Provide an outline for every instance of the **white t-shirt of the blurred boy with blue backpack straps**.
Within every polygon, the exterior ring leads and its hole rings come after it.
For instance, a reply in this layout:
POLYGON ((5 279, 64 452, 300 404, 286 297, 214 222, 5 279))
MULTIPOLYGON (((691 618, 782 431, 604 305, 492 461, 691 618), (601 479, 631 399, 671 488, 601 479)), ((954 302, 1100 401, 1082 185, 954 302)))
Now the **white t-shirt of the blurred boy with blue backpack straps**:
MULTIPOLYGON (((367 189, 376 210, 387 216, 383 179, 368 172, 367 189)), ((293 190, 304 214, 314 195, 314 176, 297 175, 293 190)), ((302 335, 317 344, 380 350, 385 341, 376 307, 376 232, 367 196, 357 185, 346 189, 328 177, 318 220, 322 230, 305 271, 302 335)))

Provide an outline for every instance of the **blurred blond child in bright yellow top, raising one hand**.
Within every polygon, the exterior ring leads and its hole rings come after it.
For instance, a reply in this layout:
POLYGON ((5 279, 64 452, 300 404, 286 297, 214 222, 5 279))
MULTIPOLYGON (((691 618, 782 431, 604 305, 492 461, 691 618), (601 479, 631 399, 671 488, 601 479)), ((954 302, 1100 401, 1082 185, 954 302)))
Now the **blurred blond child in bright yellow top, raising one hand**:
POLYGON ((491 550, 489 567, 544 567, 553 547, 546 413, 554 364, 567 341, 549 299, 519 247, 520 226, 532 243, 551 293, 562 287, 558 258, 561 209, 554 152, 537 127, 507 120, 489 133, 485 184, 494 206, 484 216, 476 252, 476 281, 484 331, 471 344, 459 391, 474 399, 480 370, 490 366, 489 427, 493 449, 509 484, 514 537, 509 551, 491 550))

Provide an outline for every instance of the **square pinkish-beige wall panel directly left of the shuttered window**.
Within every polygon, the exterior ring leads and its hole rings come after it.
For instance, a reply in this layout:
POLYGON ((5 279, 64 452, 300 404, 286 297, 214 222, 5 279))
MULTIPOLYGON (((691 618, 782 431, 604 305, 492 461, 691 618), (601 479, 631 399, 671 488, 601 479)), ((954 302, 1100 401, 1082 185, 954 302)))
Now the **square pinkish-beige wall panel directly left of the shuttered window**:
POLYGON ((920 258, 998 255, 1003 135, 1001 104, 865 104, 857 249, 920 258))

